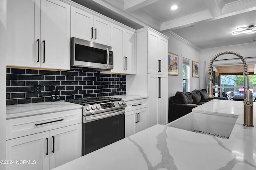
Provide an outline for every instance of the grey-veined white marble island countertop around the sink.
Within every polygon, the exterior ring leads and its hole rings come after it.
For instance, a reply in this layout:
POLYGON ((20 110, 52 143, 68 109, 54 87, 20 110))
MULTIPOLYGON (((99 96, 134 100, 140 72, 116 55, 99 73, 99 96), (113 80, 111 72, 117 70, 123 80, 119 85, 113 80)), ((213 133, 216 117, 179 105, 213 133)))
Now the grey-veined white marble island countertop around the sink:
POLYGON ((238 115, 230 138, 155 125, 54 170, 256 170, 256 124, 242 125, 243 102, 212 100, 194 111, 238 115))

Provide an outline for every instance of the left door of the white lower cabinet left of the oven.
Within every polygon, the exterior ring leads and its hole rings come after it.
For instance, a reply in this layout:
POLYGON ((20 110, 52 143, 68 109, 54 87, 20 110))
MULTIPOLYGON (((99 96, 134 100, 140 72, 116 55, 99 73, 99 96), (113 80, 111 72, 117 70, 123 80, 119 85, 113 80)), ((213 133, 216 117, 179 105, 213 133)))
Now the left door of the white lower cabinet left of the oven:
POLYGON ((49 139, 49 131, 6 141, 6 160, 14 161, 6 165, 6 170, 49 170, 46 138, 49 139))

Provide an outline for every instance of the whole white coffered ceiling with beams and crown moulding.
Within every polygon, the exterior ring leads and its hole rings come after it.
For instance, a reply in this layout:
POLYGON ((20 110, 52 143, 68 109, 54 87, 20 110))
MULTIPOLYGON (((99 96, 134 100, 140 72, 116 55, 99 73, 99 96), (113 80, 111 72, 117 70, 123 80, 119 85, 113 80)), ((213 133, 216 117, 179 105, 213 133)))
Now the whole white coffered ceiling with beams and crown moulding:
POLYGON ((255 43, 256 33, 231 35, 256 26, 256 0, 73 0, 134 29, 146 25, 182 37, 199 49, 255 43), (177 10, 170 6, 177 4, 177 10))

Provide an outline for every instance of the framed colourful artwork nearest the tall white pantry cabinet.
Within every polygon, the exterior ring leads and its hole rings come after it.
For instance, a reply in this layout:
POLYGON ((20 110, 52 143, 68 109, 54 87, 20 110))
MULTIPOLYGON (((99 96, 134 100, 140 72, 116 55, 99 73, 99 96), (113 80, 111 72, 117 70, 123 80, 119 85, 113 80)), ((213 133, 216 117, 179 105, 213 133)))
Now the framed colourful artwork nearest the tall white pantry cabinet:
POLYGON ((178 76, 179 56, 168 52, 168 75, 178 76))

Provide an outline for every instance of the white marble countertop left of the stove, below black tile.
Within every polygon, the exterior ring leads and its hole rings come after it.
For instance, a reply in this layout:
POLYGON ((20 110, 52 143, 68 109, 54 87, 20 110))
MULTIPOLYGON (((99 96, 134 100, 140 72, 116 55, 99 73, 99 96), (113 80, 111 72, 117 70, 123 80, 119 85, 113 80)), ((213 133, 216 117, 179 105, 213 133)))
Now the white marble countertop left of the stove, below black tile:
POLYGON ((19 104, 6 106, 6 119, 26 117, 82 108, 82 105, 69 102, 42 102, 32 104, 19 104))

